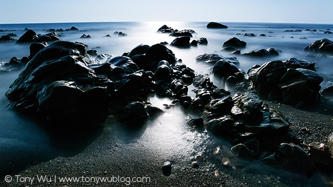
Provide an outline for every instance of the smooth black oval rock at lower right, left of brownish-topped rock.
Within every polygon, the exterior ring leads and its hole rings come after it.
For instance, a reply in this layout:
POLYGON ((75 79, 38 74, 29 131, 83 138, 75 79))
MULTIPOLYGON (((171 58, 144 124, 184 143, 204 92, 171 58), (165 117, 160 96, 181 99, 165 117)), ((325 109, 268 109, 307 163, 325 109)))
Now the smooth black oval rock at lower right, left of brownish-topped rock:
POLYGON ((315 171, 315 165, 309 155, 295 144, 280 144, 275 158, 291 172, 311 177, 315 171))

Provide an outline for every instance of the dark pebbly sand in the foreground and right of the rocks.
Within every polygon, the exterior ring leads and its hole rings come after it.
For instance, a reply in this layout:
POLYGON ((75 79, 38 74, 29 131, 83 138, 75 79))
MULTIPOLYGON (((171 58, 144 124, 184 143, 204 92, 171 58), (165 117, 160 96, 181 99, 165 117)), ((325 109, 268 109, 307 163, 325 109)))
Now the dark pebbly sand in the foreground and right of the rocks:
MULTIPOLYGON (((331 102, 318 107, 296 109, 293 106, 267 102, 269 107, 281 111, 292 123, 290 130, 305 144, 326 143, 327 135, 333 132, 331 102), (300 129, 306 127, 307 132, 300 129)), ((147 129, 145 129, 147 130, 147 129)), ((148 128, 149 130, 149 128, 148 128)), ((150 182, 131 182, 130 186, 329 186, 330 177, 317 171, 307 179, 281 170, 273 170, 252 163, 244 168, 228 167, 221 164, 220 158, 206 148, 202 158, 197 159, 199 168, 192 168, 193 155, 184 152, 164 152, 163 147, 152 149, 137 136, 117 136, 112 127, 105 127, 98 137, 76 154, 57 156, 51 160, 32 164, 19 173, 11 174, 12 182, 0 181, 1 186, 127 186, 126 182, 60 182, 58 177, 149 177, 150 182), (162 173, 164 161, 171 161, 170 176, 162 173), (17 182, 20 177, 47 176, 52 182, 17 182)), ((73 147, 73 149, 75 149, 73 147)), ((92 179, 89 179, 92 180, 92 179)), ((332 184, 332 183, 330 183, 332 184)))

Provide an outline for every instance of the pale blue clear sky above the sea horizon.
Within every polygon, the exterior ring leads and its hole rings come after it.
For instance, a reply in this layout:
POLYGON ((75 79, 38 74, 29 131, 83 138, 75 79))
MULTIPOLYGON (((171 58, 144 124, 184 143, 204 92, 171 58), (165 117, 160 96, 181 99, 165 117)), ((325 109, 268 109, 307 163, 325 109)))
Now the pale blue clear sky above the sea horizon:
POLYGON ((333 24, 332 0, 7 0, 0 23, 234 21, 333 24))

